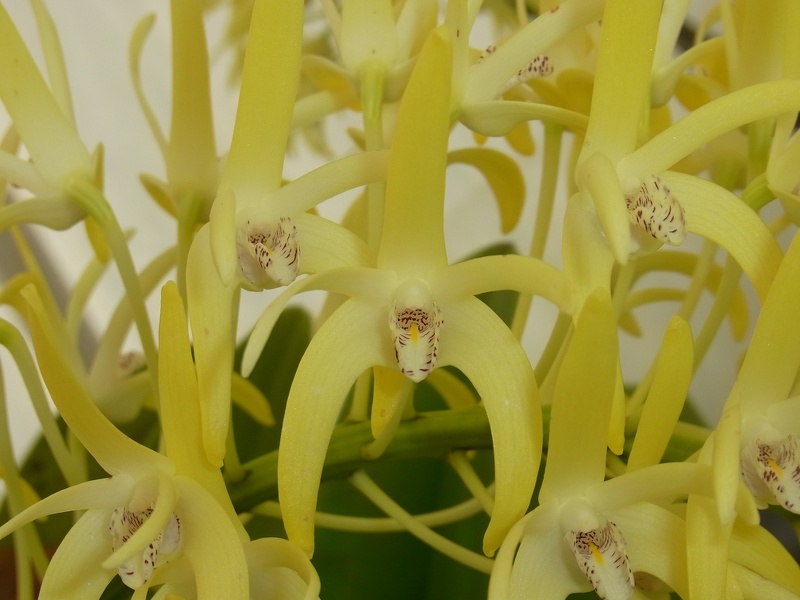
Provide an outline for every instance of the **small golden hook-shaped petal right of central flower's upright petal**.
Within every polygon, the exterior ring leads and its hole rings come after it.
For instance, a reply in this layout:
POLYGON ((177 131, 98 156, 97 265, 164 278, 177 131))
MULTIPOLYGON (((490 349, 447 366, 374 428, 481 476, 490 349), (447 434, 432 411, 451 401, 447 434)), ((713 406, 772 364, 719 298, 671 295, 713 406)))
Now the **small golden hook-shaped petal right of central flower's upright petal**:
POLYGON ((517 226, 525 203, 525 179, 512 158, 491 148, 461 148, 447 155, 447 163, 466 164, 478 169, 497 201, 500 230, 508 233, 517 226))

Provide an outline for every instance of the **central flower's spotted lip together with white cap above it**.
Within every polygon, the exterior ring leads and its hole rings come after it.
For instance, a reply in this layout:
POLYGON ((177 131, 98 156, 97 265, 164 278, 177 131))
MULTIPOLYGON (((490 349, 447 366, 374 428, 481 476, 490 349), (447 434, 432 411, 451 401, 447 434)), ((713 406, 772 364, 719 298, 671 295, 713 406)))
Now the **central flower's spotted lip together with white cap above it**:
POLYGON ((400 285, 389 315, 389 330, 400 372, 414 382, 436 366, 442 315, 428 286, 416 280, 400 285))

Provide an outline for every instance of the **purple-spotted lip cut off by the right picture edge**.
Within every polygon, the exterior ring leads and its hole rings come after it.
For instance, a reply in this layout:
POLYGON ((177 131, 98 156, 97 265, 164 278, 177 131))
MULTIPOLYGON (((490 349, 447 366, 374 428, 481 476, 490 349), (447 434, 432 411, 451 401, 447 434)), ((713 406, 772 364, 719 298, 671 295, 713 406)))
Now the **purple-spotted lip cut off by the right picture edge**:
POLYGON ((758 500, 780 504, 800 514, 798 438, 788 435, 766 442, 755 439, 742 446, 742 479, 758 500))

